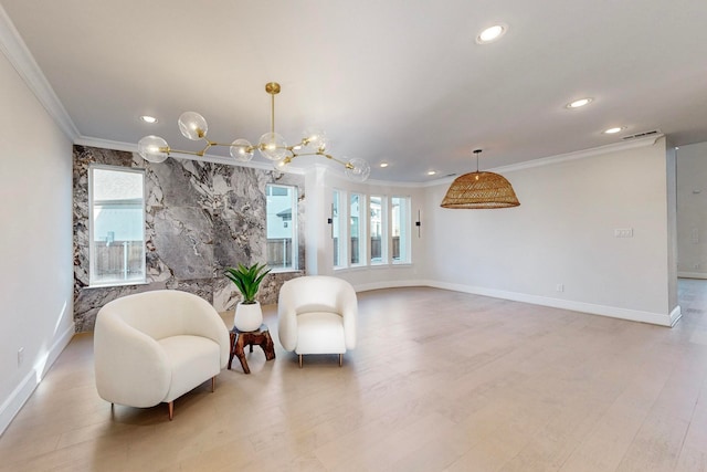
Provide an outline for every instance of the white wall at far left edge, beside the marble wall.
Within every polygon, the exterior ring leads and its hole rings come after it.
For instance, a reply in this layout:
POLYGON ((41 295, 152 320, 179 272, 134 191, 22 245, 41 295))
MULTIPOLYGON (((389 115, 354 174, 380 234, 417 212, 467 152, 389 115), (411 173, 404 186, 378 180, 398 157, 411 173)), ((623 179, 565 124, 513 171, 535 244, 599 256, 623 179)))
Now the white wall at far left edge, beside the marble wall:
POLYGON ((3 53, 0 84, 1 432, 74 328, 71 141, 3 53))

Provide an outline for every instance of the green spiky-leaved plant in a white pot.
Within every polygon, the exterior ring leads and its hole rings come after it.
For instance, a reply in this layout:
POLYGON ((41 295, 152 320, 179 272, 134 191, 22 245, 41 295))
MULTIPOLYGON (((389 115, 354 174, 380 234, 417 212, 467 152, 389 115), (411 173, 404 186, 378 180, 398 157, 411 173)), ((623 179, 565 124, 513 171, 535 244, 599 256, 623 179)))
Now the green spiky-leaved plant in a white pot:
POLYGON ((241 300, 235 305, 235 314, 233 316, 233 326, 240 332, 257 331, 263 324, 263 311, 261 304, 255 300, 257 290, 265 275, 270 273, 265 264, 253 264, 246 268, 239 264, 238 268, 226 268, 224 275, 235 284, 241 292, 241 300))

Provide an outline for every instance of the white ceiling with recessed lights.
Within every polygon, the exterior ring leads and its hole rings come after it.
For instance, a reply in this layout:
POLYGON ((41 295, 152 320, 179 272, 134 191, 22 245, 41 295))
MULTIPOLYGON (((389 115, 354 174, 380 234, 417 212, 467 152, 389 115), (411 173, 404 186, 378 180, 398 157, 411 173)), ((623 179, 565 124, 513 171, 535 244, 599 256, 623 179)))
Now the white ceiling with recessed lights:
POLYGON ((367 159, 377 180, 463 174, 474 148, 488 169, 654 129, 674 145, 707 141, 705 0, 0 4, 77 140, 134 146, 155 134, 198 150, 177 127, 194 111, 211 139, 257 143, 270 130, 264 86, 275 81, 275 127, 288 144, 319 126, 335 157, 367 159), (507 33, 477 44, 496 22, 507 33), (593 102, 566 108, 581 97, 593 102), (159 123, 141 123, 145 114, 159 123), (625 129, 602 134, 612 126, 625 129))

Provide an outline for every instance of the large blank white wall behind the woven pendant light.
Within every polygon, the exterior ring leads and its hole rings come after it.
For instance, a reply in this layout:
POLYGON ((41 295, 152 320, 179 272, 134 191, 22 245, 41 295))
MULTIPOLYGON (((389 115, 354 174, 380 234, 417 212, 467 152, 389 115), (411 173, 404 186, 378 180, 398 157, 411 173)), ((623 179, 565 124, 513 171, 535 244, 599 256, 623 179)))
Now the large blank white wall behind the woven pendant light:
POLYGON ((521 203, 502 210, 442 209, 449 182, 428 188, 429 284, 673 324, 667 164, 661 138, 502 172, 521 203), (615 238, 615 229, 633 238, 615 238))

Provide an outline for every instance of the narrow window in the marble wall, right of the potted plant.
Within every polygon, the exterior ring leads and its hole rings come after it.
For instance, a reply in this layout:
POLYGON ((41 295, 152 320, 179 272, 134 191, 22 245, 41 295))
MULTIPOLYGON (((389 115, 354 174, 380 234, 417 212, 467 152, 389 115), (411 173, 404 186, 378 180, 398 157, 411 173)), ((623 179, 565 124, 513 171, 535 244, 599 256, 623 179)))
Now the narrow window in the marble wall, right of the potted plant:
POLYGON ((297 188, 268 183, 266 190, 267 265, 297 270, 297 188))

